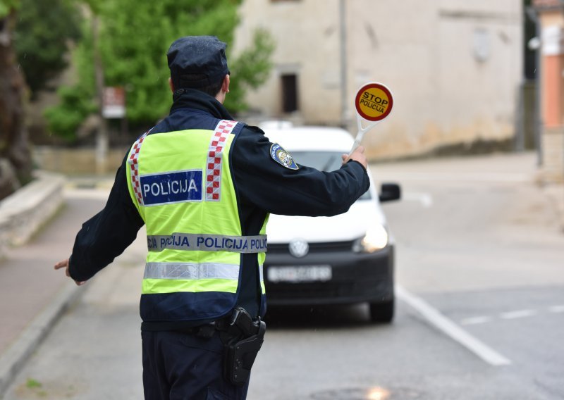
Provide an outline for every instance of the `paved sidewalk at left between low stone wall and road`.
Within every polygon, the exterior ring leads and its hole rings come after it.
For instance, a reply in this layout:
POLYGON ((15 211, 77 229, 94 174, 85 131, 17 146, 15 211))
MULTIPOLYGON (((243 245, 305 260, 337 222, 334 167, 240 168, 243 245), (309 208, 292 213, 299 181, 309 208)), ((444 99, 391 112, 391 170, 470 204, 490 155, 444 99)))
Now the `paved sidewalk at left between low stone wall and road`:
POLYGON ((78 198, 66 192, 53 220, 0 261, 0 398, 51 325, 78 298, 78 287, 62 270, 55 271, 54 263, 71 254, 76 232, 102 209, 106 193, 78 198))

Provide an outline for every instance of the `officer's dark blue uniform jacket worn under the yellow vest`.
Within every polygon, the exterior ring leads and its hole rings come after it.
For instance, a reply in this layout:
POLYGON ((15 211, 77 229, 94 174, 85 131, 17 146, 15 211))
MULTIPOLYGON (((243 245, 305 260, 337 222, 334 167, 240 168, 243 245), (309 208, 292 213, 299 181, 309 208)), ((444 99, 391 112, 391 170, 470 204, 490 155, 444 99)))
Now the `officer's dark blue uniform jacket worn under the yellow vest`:
MULTIPOLYGON (((214 97, 185 89, 174 96, 170 115, 150 135, 189 129, 213 130, 219 119, 233 120, 233 117, 214 97)), ((272 143, 262 130, 238 125, 242 129, 233 144, 231 169, 243 235, 259 235, 266 213, 309 216, 344 213, 369 187, 367 171, 356 161, 349 161, 331 173, 304 165, 298 170, 284 168, 271 158, 272 143)), ((87 280, 114 261, 143 225, 128 192, 125 168, 124 158, 106 206, 87 220, 76 236, 69 267, 74 280, 87 280)), ((262 316, 266 310, 256 263, 256 254, 243 254, 238 305, 252 316, 262 316)), ((142 330, 182 330, 183 326, 207 322, 144 322, 142 330)))

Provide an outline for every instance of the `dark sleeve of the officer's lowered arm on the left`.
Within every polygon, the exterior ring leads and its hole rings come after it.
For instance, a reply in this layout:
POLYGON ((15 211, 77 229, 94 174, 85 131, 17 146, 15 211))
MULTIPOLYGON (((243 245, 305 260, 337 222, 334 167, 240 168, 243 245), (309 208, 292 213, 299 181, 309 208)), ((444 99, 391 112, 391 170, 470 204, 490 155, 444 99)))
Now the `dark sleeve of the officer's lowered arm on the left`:
MULTIPOLYGON (((68 262, 68 275, 84 282, 114 261, 135 240, 144 225, 131 201, 125 178, 125 160, 116 173, 104 209, 82 224, 68 262)), ((63 261, 58 263, 59 268, 63 261)))

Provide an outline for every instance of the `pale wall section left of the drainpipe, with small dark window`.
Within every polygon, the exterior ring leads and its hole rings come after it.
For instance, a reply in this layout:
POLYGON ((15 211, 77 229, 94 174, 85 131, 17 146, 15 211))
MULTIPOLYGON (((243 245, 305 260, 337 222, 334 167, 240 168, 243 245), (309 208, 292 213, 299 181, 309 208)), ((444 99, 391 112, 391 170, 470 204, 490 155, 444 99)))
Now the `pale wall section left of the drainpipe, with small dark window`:
POLYGON ((264 87, 248 95, 250 104, 267 116, 280 117, 280 76, 297 73, 302 117, 316 123, 338 124, 341 120, 338 1, 247 0, 240 16, 235 52, 250 43, 252 30, 257 27, 269 30, 276 40, 274 70, 264 87))

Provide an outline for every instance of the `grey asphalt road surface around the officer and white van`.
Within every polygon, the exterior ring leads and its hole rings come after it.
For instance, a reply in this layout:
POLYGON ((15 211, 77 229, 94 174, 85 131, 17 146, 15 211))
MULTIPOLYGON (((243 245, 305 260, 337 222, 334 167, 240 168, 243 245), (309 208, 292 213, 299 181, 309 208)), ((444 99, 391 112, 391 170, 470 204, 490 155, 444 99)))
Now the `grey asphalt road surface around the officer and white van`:
MULTIPOLYGON (((534 156, 374 165, 399 182, 391 325, 269 311, 249 399, 564 399, 564 235, 534 156)), ((5 399, 140 399, 143 242, 86 285, 5 399)))

